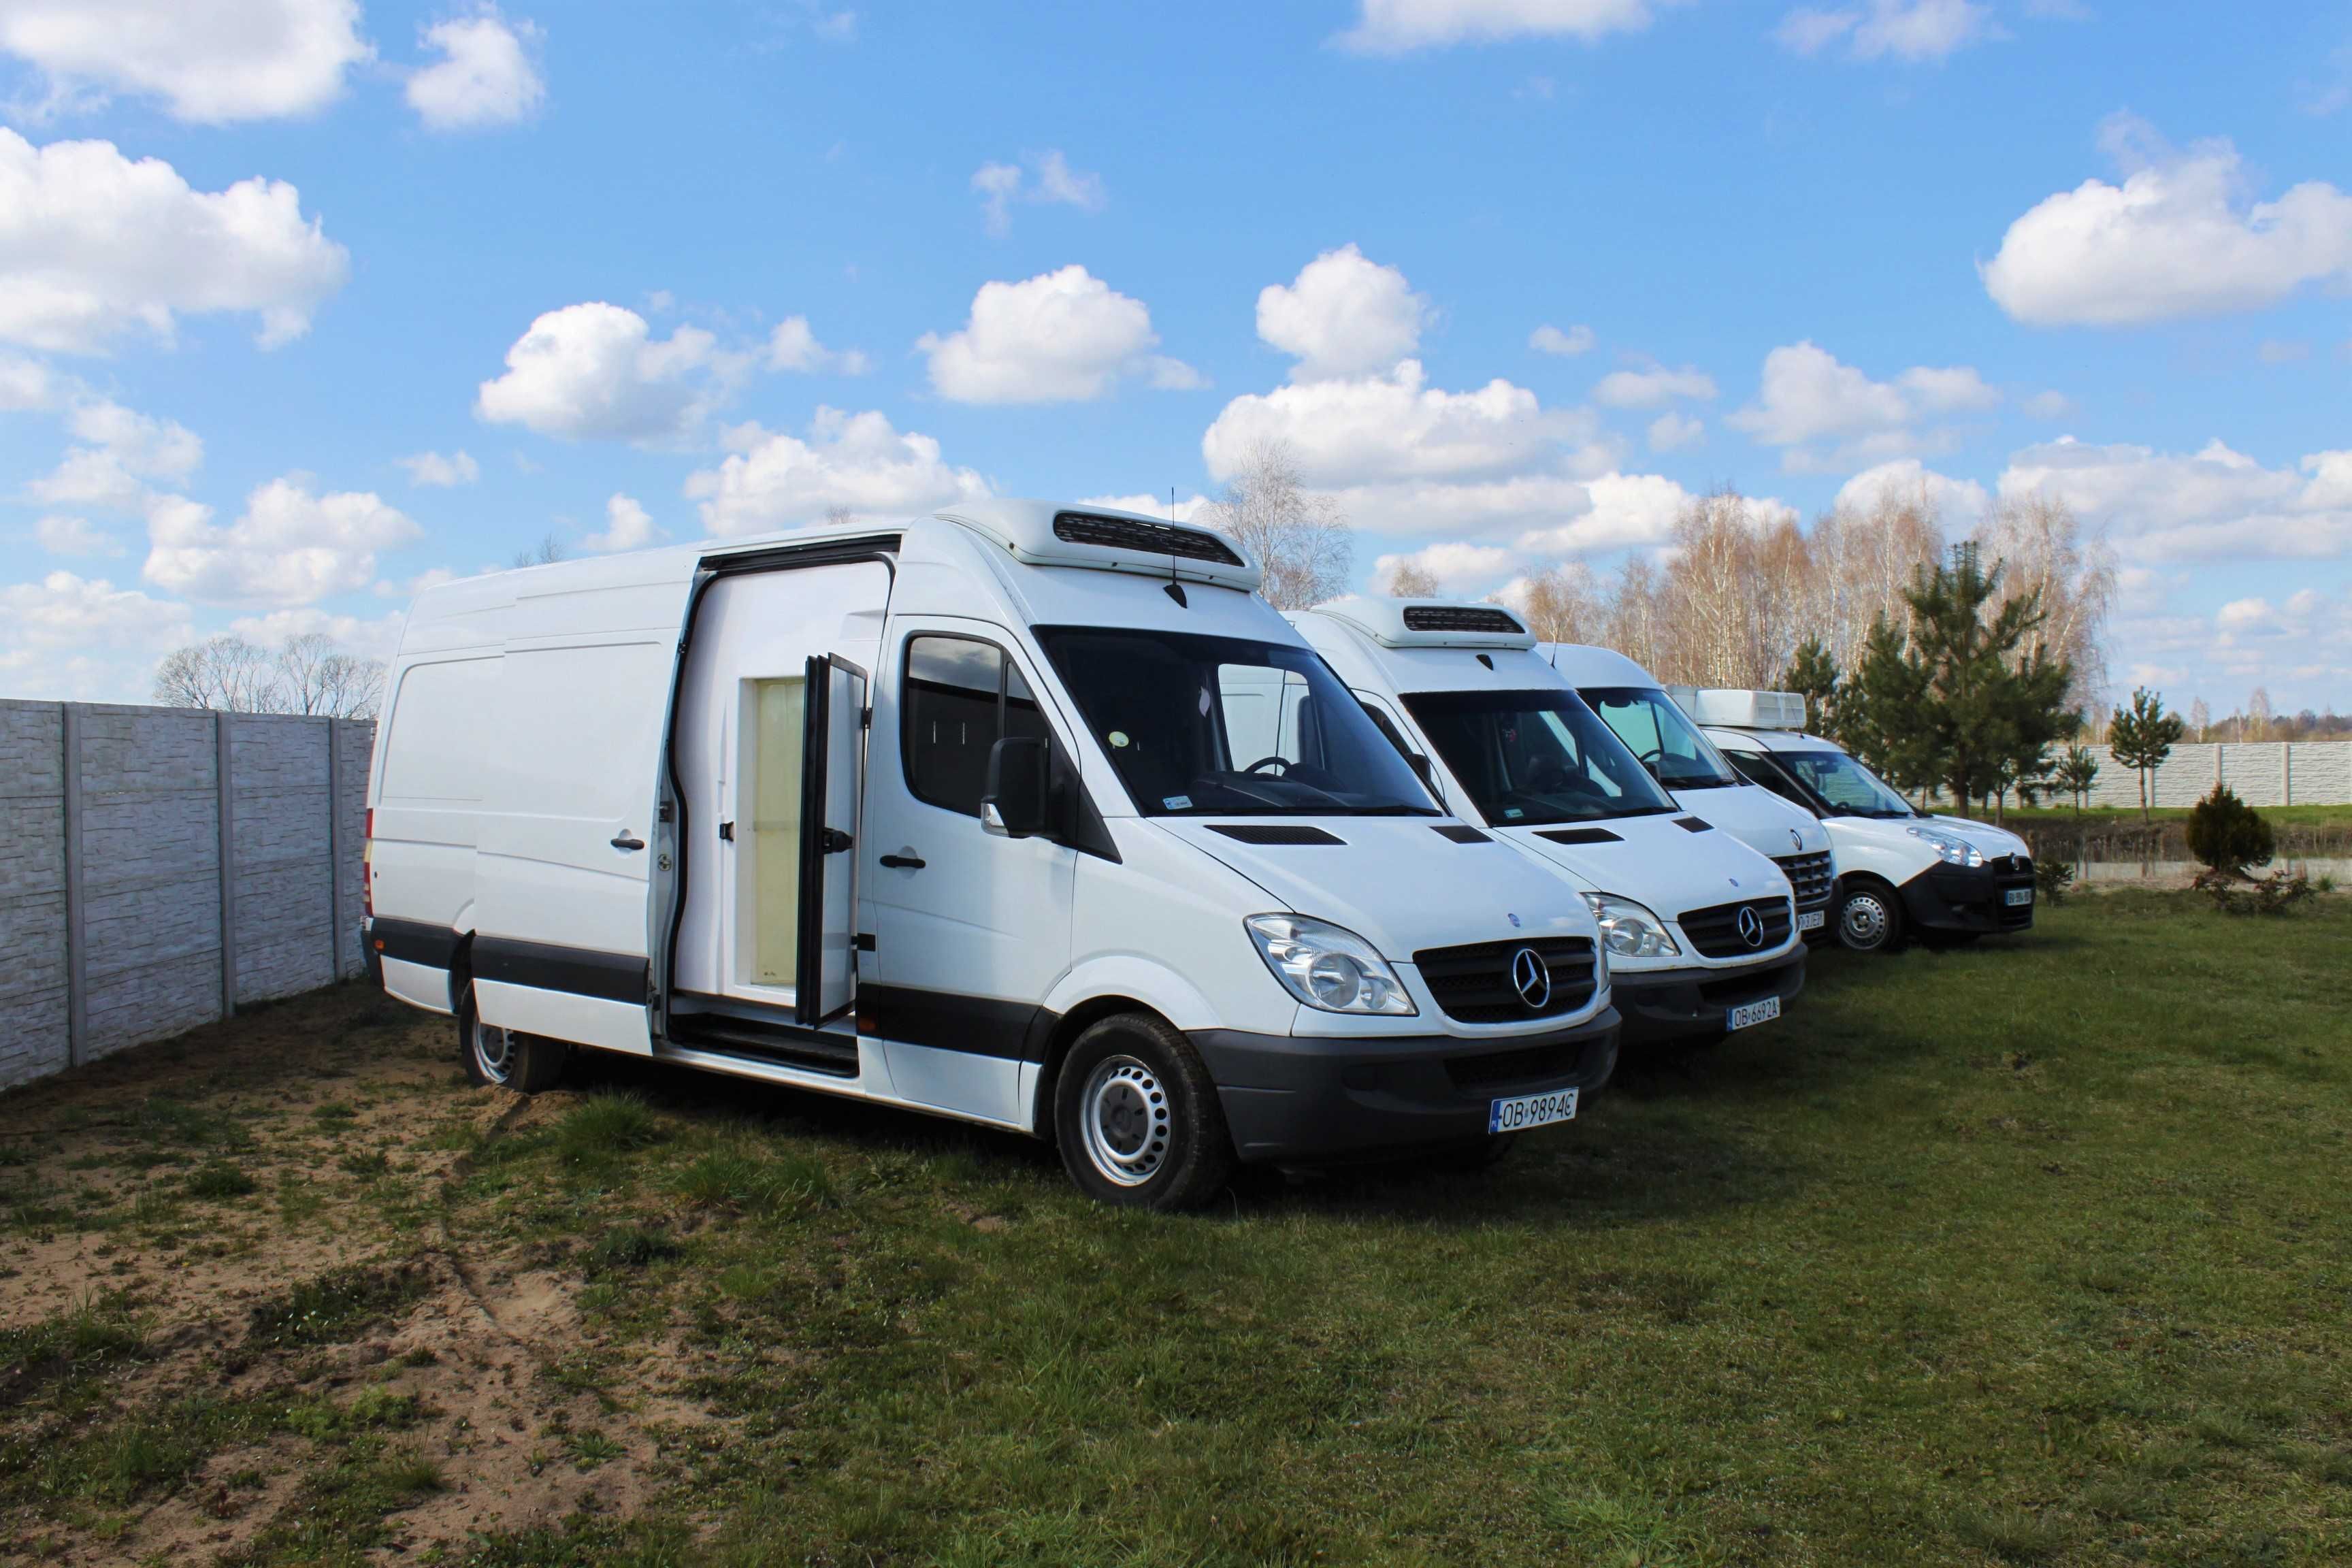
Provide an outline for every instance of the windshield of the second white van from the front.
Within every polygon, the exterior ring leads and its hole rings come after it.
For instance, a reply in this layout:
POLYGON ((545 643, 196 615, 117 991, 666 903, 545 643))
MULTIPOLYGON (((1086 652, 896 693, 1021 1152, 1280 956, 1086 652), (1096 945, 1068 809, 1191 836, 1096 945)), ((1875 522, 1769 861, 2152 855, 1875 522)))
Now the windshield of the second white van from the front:
POLYGON ((1682 809, 1573 691, 1406 691, 1404 705, 1494 827, 1682 809))

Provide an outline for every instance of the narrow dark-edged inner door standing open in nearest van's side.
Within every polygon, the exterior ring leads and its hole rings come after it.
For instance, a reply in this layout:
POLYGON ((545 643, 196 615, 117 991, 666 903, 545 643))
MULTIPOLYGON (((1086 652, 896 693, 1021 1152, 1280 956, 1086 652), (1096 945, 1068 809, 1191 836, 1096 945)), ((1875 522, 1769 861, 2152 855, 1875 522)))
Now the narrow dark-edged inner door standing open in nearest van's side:
POLYGON ((856 856, 866 792, 866 670, 809 658, 800 776, 800 954, 795 1023, 833 1023, 858 999, 856 856))

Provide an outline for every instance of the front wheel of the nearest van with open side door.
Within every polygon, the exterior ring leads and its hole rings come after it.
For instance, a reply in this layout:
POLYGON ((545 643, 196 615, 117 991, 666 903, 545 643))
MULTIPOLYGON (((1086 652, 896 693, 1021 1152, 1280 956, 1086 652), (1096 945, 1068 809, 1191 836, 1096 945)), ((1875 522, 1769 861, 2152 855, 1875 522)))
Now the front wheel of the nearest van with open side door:
POLYGON ((1209 1070, 1150 1013, 1077 1037, 1054 1081, 1054 1138, 1070 1180, 1122 1208, 1200 1208, 1235 1164, 1209 1070))

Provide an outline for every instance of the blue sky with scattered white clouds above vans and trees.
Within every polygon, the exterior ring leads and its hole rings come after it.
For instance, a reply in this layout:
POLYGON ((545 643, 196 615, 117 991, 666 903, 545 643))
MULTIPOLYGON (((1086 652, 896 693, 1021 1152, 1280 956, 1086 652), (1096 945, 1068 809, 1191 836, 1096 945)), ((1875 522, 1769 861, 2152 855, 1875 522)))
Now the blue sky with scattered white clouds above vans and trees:
POLYGON ((2352 705, 2352 5, 0 0, 0 103, 5 696, 1284 437, 1470 595, 2042 489, 2117 686, 2352 705))

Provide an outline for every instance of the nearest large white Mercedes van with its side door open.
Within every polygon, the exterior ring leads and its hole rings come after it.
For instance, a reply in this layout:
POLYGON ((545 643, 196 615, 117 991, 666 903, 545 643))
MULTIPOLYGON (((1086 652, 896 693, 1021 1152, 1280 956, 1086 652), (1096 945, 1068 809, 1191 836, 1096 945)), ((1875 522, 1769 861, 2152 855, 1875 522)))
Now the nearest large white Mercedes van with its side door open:
POLYGON ((482 1081, 593 1046, 882 1100, 1115 1204, 1566 1121, 1616 1063, 1590 910, 1256 583, 1204 529, 988 501, 428 588, 367 952, 482 1081))

